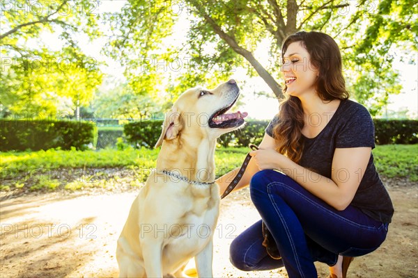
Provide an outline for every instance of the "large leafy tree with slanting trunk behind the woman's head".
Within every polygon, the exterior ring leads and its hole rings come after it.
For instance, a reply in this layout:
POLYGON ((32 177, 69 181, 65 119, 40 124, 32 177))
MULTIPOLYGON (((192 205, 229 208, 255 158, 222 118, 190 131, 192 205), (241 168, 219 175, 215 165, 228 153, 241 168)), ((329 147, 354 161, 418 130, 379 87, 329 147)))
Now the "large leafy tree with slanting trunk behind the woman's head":
MULTIPOLYGON (((341 0, 130 0, 121 13, 109 15, 115 31, 110 38, 109 53, 121 59, 124 65, 129 65, 131 72, 140 66, 137 57, 157 56, 164 60, 164 56, 158 54, 159 49, 167 47, 164 38, 169 38, 173 33, 176 22, 186 18, 190 24, 185 30, 187 44, 176 50, 170 49, 169 53, 187 56, 192 65, 199 67, 197 70, 196 67, 190 67, 191 70, 183 74, 186 78, 180 77, 178 80, 183 82, 186 79, 187 83, 204 80, 208 71, 200 69, 209 69, 210 72, 213 65, 221 65, 224 69, 218 74, 219 77, 227 76, 234 67, 244 66, 251 76, 261 76, 274 95, 280 98, 281 86, 277 80, 284 38, 299 30, 323 31, 332 35, 341 46, 349 74, 346 77, 350 88, 357 90, 355 96, 364 94, 358 90, 369 92, 376 85, 371 83, 367 88, 355 85, 362 74, 356 72, 359 66, 364 70, 370 68, 369 72, 377 74, 380 82, 390 86, 389 92, 396 92, 398 85, 389 81, 393 81, 396 73, 390 67, 392 61, 386 56, 387 51, 395 42, 416 42, 417 29, 412 27, 416 14, 417 3, 412 0, 382 0, 378 6, 376 1, 368 0, 356 3, 341 0), (388 32, 380 30, 387 28, 388 24, 392 26, 389 28, 392 38, 382 40, 388 32), (373 28, 378 31, 372 32, 373 28), (270 44, 270 60, 262 65, 254 53, 266 41, 270 44), (373 63, 361 58, 367 46, 382 49, 371 54, 373 63), (132 55, 134 53, 139 55, 132 55), (385 62, 383 67, 382 61, 385 62)), ((169 60, 173 56, 168 54, 165 58, 169 60)))

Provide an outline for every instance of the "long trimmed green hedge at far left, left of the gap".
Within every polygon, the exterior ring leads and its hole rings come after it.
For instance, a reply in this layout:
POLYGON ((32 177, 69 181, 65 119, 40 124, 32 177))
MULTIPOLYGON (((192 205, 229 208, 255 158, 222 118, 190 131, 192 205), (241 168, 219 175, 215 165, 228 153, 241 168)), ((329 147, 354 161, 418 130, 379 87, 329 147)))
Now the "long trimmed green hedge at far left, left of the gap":
POLYGON ((0 151, 86 149, 97 133, 91 122, 56 120, 0 120, 0 151))

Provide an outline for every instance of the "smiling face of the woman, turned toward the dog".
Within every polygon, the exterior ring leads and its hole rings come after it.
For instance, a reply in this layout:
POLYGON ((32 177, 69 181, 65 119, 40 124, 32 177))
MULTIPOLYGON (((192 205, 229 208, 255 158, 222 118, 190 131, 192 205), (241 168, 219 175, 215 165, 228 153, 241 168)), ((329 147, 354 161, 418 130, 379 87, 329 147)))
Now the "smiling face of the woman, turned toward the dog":
POLYGON ((311 56, 301 42, 289 44, 280 70, 284 75, 288 95, 300 97, 315 92, 319 70, 311 64, 311 56))

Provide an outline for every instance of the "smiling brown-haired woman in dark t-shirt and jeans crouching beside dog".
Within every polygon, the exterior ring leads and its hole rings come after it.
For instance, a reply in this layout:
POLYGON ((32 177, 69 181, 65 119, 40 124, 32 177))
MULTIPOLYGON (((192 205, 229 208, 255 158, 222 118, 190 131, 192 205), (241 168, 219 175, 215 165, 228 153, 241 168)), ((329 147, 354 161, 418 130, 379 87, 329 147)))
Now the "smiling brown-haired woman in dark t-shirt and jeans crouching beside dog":
MULTIPOLYGON (((260 220, 233 240, 231 263, 246 271, 284 265, 292 278, 317 277, 314 261, 321 261, 330 277, 346 277, 353 256, 382 244, 394 213, 373 165, 373 121, 348 99, 329 35, 297 32, 281 53, 286 100, 235 188, 249 183, 281 258, 263 247, 260 220)), ((221 193, 235 173, 218 179, 221 193)))

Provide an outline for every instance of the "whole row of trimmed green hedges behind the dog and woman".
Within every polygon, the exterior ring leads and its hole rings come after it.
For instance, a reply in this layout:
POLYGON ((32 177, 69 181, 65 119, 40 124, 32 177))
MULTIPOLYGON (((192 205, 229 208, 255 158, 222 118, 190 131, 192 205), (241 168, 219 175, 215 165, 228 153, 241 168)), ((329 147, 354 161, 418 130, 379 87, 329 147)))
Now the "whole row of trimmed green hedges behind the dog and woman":
MULTIPOLYGON (((376 144, 417 144, 417 120, 375 119, 376 144)), ((91 122, 53 120, 1 120, 0 151, 33 151, 40 149, 85 149, 92 144, 98 149, 123 147, 124 140, 135 148, 153 148, 162 129, 162 120, 143 120, 122 126, 100 126, 91 122), (125 138, 124 135, 125 134, 125 138), (97 141, 97 144, 96 144, 97 141)), ((222 147, 248 147, 258 145, 263 139, 268 120, 248 120, 239 130, 222 135, 222 147)))

